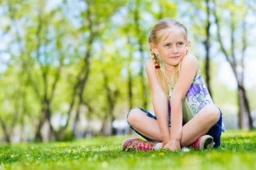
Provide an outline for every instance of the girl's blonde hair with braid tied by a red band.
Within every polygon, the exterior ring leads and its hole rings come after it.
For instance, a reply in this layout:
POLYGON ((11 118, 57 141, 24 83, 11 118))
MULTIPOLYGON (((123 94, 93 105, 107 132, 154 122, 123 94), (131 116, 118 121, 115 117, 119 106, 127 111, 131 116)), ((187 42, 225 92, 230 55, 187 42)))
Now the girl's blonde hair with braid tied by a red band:
MULTIPOLYGON (((160 33, 164 30, 164 29, 168 29, 168 28, 172 28, 172 27, 180 27, 182 29, 184 29, 185 32, 185 39, 187 39, 187 28, 177 22, 176 20, 173 19, 162 19, 160 20, 158 23, 155 24, 155 26, 152 28, 151 32, 150 32, 150 36, 148 37, 148 43, 151 44, 158 44, 159 41, 161 40, 161 36, 160 33)), ((177 79, 177 77, 179 76, 179 69, 180 69, 180 63, 176 66, 174 66, 174 76, 173 76, 173 80, 170 80, 166 74, 166 71, 163 69, 157 69, 159 68, 159 66, 162 66, 162 59, 156 55, 155 53, 151 51, 151 56, 152 56, 152 60, 154 62, 155 68, 156 68, 156 76, 158 79, 158 82, 161 84, 165 94, 167 96, 169 96, 169 91, 170 91, 170 86, 173 85, 174 81, 177 79)))

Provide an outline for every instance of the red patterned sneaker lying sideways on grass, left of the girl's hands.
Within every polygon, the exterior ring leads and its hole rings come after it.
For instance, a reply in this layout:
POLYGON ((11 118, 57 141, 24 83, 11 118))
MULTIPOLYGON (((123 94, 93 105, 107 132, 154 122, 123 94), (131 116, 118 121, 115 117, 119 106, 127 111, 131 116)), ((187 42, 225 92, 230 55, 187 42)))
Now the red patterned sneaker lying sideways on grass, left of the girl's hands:
POLYGON ((123 150, 125 151, 152 151, 156 142, 142 141, 138 138, 129 138, 123 141, 123 150))

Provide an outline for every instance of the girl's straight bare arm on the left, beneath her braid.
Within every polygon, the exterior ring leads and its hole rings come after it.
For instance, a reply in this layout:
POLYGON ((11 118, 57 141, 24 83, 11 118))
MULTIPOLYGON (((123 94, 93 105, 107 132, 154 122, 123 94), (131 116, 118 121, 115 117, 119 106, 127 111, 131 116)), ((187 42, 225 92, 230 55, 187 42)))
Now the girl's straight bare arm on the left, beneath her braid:
POLYGON ((164 94, 164 91, 156 78, 155 66, 151 59, 146 62, 146 72, 152 91, 152 102, 161 133, 160 135, 162 135, 163 143, 165 145, 170 139, 170 130, 168 126, 168 98, 166 94, 164 94))

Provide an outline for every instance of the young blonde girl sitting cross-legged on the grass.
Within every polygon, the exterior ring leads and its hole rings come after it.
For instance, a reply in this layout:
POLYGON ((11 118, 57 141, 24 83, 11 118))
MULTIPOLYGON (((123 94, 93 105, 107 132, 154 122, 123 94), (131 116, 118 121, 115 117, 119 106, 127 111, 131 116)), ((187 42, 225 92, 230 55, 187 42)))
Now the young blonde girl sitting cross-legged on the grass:
POLYGON ((176 20, 160 20, 148 43, 152 59, 146 62, 146 72, 155 116, 131 109, 127 122, 147 141, 126 139, 123 150, 220 146, 222 113, 213 104, 196 57, 188 53, 187 28, 176 20))

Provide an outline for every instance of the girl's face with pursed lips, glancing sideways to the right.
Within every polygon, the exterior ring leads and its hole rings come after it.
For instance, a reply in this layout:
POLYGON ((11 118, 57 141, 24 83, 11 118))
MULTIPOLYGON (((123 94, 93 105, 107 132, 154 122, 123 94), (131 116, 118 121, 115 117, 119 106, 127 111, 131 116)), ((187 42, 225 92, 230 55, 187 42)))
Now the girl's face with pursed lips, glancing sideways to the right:
POLYGON ((178 65, 188 49, 185 31, 180 27, 173 27, 163 30, 159 36, 160 41, 154 45, 153 52, 159 54, 165 65, 178 65))

